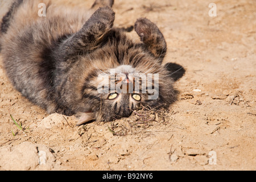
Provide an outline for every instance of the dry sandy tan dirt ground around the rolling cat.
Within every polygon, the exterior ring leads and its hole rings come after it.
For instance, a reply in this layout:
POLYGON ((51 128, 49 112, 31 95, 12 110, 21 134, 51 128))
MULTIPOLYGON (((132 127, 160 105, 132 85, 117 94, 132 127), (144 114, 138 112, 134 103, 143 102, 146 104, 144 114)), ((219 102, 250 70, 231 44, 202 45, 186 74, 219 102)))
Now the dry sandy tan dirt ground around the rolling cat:
MULTIPOLYGON (((71 2, 89 7, 93 0, 71 2)), ((256 1, 214 1, 216 17, 210 3, 113 6, 115 26, 139 17, 155 22, 167 40, 165 63, 184 67, 175 82, 179 100, 168 112, 77 127, 75 118, 48 115, 22 97, 0 64, 0 169, 255 170, 256 1)))

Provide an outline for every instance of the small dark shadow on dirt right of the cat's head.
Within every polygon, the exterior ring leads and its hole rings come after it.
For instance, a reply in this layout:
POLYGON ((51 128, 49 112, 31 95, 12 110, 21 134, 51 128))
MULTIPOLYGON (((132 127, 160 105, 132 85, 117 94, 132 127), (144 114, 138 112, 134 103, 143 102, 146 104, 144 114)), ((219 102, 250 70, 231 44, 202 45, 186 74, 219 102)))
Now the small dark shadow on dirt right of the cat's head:
POLYGON ((170 77, 174 79, 174 81, 179 80, 185 74, 185 69, 176 63, 167 63, 164 65, 166 69, 170 72, 170 77))

